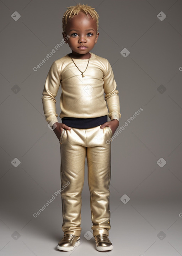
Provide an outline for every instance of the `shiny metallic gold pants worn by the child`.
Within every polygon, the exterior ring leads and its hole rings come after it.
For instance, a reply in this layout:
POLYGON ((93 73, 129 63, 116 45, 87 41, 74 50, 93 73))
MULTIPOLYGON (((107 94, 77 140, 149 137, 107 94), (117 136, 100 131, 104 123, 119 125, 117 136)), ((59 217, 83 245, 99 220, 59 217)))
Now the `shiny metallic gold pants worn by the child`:
POLYGON ((61 202, 64 234, 81 234, 81 192, 84 185, 85 157, 88 165, 88 183, 93 236, 109 235, 109 184, 111 178, 110 127, 99 126, 63 130, 60 135, 61 202))

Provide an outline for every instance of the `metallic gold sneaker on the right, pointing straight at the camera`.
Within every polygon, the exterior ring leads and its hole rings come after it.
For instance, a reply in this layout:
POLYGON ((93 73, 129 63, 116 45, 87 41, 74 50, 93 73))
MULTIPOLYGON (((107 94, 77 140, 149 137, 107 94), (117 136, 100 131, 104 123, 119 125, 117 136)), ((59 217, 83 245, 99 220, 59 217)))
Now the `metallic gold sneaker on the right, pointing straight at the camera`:
POLYGON ((108 239, 108 236, 105 234, 100 234, 94 236, 96 242, 97 251, 109 251, 113 249, 111 241, 108 239))

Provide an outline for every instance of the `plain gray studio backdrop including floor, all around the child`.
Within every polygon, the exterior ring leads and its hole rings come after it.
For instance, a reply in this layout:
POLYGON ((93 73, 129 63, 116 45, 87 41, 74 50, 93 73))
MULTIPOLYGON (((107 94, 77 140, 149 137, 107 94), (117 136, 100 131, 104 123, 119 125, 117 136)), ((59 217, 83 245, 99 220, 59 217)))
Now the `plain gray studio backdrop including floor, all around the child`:
MULTIPOLYGON (((182 255, 182 1, 81 4, 100 15, 100 35, 91 52, 110 62, 120 126, 128 123, 112 141, 109 239, 114 249, 103 254, 182 255), (124 48, 127 57, 121 54, 124 48), (143 111, 129 123, 140 107, 143 111), (163 167, 157 164, 161 158, 163 167), (121 200, 124 195, 128 202, 121 200)), ((60 189, 60 144, 47 126, 41 97, 50 66, 71 52, 69 46, 63 44, 37 71, 33 67, 62 41, 62 16, 73 5, 76 1, 0 1, 0 255, 102 253, 91 234, 86 166, 80 246, 73 252, 56 249, 63 236, 60 195, 33 217, 60 189), (21 15, 17 21, 11 17, 15 11, 21 15), (15 158, 21 162, 17 167, 15 158)), ((60 94, 61 88, 58 115, 60 94)))

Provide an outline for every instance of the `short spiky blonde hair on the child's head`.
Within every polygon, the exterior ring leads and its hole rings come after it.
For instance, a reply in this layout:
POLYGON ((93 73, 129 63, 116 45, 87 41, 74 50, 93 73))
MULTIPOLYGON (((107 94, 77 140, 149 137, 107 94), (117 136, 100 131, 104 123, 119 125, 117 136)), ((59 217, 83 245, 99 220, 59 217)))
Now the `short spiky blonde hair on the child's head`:
POLYGON ((90 16, 92 17, 92 19, 96 19, 96 25, 97 25, 97 32, 98 32, 98 13, 94 10, 95 8, 92 8, 91 6, 88 6, 88 4, 86 5, 81 5, 76 4, 75 6, 70 6, 67 7, 67 11, 65 11, 64 15, 63 15, 63 19, 62 19, 62 23, 63 23, 63 32, 65 32, 66 30, 66 24, 68 22, 68 19, 73 18, 75 15, 77 15, 79 13, 79 11, 84 12, 87 17, 88 14, 90 14, 90 16), (88 13, 88 14, 87 14, 88 13))

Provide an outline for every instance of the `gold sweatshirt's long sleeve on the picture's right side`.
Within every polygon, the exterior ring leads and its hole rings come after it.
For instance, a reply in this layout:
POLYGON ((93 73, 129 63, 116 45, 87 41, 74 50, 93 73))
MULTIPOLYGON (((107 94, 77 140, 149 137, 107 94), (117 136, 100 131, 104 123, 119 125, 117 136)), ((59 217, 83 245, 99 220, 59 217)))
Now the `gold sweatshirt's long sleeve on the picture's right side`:
POLYGON ((114 80, 114 75, 112 71, 112 67, 108 62, 108 69, 106 74, 103 77, 103 88, 105 92, 105 100, 107 101, 108 109, 109 109, 109 118, 111 120, 117 119, 121 117, 120 114, 120 105, 119 105, 119 95, 118 90, 116 90, 116 81, 114 80))

